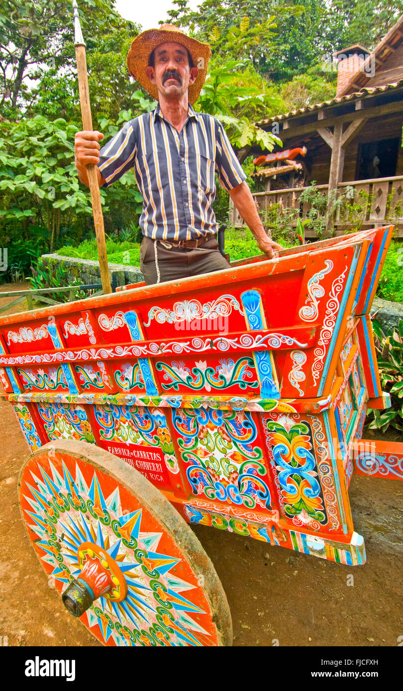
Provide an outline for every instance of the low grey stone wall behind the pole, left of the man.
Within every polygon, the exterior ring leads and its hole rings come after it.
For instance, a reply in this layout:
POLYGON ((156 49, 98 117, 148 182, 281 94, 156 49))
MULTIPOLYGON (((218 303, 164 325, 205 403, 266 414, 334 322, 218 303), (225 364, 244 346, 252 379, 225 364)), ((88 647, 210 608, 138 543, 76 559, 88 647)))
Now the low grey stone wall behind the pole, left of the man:
MULTIPOLYGON (((67 271, 69 281, 74 281, 75 278, 78 278, 82 285, 101 283, 100 265, 97 261, 65 257, 59 254, 42 254, 41 258, 44 260, 45 266, 49 263, 62 265, 67 271)), ((109 263, 108 266, 112 287, 144 281, 140 267, 112 263, 109 263)))

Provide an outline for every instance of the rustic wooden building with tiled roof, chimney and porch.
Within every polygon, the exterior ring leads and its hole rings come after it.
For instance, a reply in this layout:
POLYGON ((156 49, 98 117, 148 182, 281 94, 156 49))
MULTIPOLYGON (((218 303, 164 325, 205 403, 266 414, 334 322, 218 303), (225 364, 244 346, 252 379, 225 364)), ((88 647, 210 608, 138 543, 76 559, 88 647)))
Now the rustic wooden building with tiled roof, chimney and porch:
MULTIPOLYGON (((335 98, 258 123, 278 133, 283 149, 306 146, 308 153, 296 159, 303 164, 298 184, 293 172, 287 176, 279 171, 275 179, 261 176, 261 191, 254 193, 256 205, 263 217, 268 205, 280 201, 284 208, 299 209, 301 191, 312 181, 332 200, 353 187, 350 202, 364 205, 359 211, 363 228, 380 227, 388 220, 403 236, 403 15, 372 53, 355 45, 334 57, 338 61, 335 98)), ((245 147, 239 158, 261 153, 257 146, 245 147)), ((304 218, 309 207, 301 206, 304 218)), ((243 225, 233 207, 229 220, 243 225)), ((343 207, 328 219, 328 229, 335 227, 337 234, 349 225, 354 227, 355 219, 347 223, 343 207)))

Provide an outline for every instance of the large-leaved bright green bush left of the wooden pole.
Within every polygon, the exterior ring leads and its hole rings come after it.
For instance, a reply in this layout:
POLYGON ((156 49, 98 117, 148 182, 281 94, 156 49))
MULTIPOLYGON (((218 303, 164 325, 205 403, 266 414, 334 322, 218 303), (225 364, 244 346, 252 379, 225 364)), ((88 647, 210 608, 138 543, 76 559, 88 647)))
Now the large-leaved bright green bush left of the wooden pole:
POLYGON ((0 243, 24 274, 59 242, 62 220, 92 213, 73 163, 76 131, 44 115, 0 125, 0 243))

